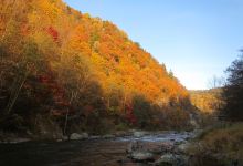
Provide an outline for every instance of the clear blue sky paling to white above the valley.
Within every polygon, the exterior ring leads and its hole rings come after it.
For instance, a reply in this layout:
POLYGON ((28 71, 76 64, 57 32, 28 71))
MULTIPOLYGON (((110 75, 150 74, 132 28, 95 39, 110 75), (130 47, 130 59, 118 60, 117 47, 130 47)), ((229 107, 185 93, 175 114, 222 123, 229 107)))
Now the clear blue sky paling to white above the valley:
POLYGON ((243 48, 243 0, 64 0, 109 20, 188 90, 211 87, 243 48))

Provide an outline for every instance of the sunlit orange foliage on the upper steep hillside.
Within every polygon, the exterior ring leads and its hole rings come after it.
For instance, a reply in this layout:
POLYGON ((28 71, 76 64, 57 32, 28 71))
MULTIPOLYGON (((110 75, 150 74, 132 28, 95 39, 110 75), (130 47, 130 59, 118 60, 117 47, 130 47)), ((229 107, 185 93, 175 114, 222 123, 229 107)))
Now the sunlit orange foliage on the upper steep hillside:
MULTIPOLYGON (((61 0, 30 0, 27 4, 22 1, 22 4, 27 7, 27 10, 22 13, 25 20, 21 31, 27 38, 35 40, 34 42, 38 43, 44 58, 49 61, 51 71, 61 75, 61 70, 64 70, 62 66, 65 56, 72 58, 71 62, 77 61, 77 63, 73 63, 74 65, 82 64, 78 63, 83 60, 82 58, 87 59, 85 63, 88 63, 87 65, 94 74, 84 74, 84 77, 81 77, 82 74, 78 72, 87 73, 87 71, 80 66, 70 66, 73 68, 70 70, 73 73, 66 75, 74 75, 74 79, 65 77, 71 82, 68 84, 71 87, 66 87, 67 91, 72 91, 74 94, 82 92, 82 95, 86 93, 96 101, 107 102, 105 104, 109 106, 109 97, 113 97, 109 87, 113 85, 119 89, 118 104, 113 106, 124 112, 127 110, 127 118, 130 123, 136 123, 136 120, 133 108, 126 105, 130 103, 134 95, 145 96, 151 104, 169 104, 171 100, 180 102, 188 97, 187 90, 168 73, 163 64, 159 64, 151 54, 140 48, 138 43, 129 40, 127 34, 112 22, 83 14, 61 0), (104 95, 104 98, 93 96, 94 90, 89 90, 92 87, 86 85, 91 82, 85 82, 85 79, 97 81, 97 84, 102 86, 101 94, 104 95)), ((0 17, 0 25, 3 24, 2 20, 0 17)), ((4 20, 11 19, 6 17, 4 20)), ((59 76, 56 77, 59 79, 59 76)), ((66 92, 62 90, 62 80, 59 81, 60 85, 57 82, 52 82, 52 79, 41 79, 41 82, 53 91, 54 102, 60 107, 70 107, 65 98, 66 92)), ((82 97, 77 97, 75 102, 82 102, 78 100, 82 97)), ((92 98, 88 98, 88 102, 91 101, 92 98)), ((82 103, 83 111, 88 114, 95 110, 95 106, 85 102, 82 103)), ((103 105, 102 102, 99 105, 103 105)), ((97 104, 97 102, 92 104, 97 104)), ((53 114, 62 113, 54 110, 53 114)))

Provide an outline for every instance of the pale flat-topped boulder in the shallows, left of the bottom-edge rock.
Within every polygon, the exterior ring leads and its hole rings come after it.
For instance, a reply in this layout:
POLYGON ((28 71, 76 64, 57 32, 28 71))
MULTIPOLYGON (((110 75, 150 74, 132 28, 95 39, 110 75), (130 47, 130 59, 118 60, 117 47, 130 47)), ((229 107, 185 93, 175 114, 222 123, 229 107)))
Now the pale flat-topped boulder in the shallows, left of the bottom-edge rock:
POLYGON ((131 154, 128 157, 136 162, 155 160, 154 154, 149 152, 131 152, 131 154))

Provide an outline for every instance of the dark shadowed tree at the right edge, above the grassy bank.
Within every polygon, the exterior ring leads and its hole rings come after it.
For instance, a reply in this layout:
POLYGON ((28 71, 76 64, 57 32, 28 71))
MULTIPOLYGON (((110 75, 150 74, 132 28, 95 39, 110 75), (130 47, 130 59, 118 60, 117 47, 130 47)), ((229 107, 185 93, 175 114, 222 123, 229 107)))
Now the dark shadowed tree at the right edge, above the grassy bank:
POLYGON ((222 113, 226 120, 243 121, 243 54, 233 61, 226 73, 229 76, 223 89, 225 104, 222 113))

